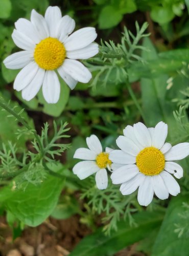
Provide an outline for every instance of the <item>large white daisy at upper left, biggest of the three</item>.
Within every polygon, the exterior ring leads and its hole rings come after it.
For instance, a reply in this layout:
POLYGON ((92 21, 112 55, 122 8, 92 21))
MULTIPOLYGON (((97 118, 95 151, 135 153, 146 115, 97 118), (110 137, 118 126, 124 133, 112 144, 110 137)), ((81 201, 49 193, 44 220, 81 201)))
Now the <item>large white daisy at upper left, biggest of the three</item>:
POLYGON ((22 91, 22 98, 31 100, 42 86, 48 103, 56 103, 60 96, 60 82, 55 70, 70 89, 77 82, 91 79, 89 70, 77 59, 96 55, 98 45, 95 28, 75 29, 73 18, 62 17, 60 9, 48 7, 44 17, 32 10, 31 21, 19 18, 12 38, 24 51, 13 53, 4 60, 8 69, 21 69, 14 81, 14 89, 22 91))

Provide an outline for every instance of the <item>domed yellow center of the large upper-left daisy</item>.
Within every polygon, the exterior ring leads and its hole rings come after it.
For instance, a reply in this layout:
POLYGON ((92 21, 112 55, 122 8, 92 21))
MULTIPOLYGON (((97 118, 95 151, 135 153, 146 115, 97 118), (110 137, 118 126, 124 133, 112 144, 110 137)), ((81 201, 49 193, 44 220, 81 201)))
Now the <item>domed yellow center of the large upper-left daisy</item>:
POLYGON ((39 42, 34 50, 35 62, 41 69, 59 68, 66 57, 64 45, 56 38, 48 37, 39 42))

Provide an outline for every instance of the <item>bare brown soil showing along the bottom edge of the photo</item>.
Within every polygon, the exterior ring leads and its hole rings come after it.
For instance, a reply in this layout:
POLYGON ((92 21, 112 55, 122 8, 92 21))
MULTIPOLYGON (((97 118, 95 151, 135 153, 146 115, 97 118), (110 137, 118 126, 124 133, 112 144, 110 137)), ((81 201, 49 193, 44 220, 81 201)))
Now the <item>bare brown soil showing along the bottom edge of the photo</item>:
MULTIPOLYGON (((49 218, 38 227, 26 227, 21 237, 13 242, 11 229, 5 218, 1 217, 0 256, 67 256, 77 243, 90 233, 91 230, 80 223, 77 215, 66 220, 49 218)), ((143 255, 135 251, 135 245, 115 254, 115 256, 143 255)))

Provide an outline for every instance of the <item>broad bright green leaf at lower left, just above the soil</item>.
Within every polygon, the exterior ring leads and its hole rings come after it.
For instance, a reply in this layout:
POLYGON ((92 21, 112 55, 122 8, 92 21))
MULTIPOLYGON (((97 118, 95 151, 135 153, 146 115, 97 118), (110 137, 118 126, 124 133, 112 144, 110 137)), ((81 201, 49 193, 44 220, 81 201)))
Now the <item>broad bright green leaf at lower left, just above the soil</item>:
POLYGON ((25 190, 13 190, 10 186, 9 189, 6 188, 9 198, 4 202, 5 206, 21 222, 37 226, 52 213, 63 184, 64 181, 60 178, 47 176, 40 185, 29 183, 25 190))

